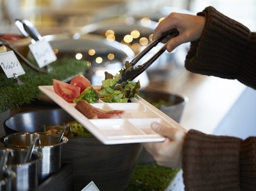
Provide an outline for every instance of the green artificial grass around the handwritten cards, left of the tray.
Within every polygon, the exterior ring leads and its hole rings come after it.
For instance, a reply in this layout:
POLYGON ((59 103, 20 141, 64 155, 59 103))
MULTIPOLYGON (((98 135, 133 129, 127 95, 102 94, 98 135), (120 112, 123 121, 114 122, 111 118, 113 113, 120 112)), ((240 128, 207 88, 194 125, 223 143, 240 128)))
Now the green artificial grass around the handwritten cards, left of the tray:
POLYGON ((19 85, 13 78, 7 78, 0 72, 0 114, 23 104, 30 104, 42 94, 38 86, 52 85, 53 79, 64 81, 88 69, 88 62, 73 58, 60 58, 50 66, 53 68, 48 74, 37 72, 25 64, 21 66, 26 74, 19 76, 23 85, 19 85))

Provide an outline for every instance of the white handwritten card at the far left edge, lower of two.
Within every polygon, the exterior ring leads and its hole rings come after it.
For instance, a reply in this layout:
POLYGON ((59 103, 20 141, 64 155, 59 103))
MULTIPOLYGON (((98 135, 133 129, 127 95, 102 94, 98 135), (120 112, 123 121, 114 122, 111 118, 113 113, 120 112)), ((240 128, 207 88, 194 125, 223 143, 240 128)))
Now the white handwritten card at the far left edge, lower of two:
POLYGON ((24 69, 13 51, 0 53, 0 64, 8 78, 25 74, 24 69))

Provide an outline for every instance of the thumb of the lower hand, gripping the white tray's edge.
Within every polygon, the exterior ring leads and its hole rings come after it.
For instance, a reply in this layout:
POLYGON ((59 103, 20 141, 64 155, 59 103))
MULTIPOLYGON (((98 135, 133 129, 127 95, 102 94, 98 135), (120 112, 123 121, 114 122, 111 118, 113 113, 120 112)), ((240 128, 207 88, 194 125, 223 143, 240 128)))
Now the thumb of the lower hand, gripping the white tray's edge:
POLYGON ((171 140, 181 140, 185 135, 185 132, 183 132, 182 130, 179 130, 177 128, 168 128, 157 122, 152 122, 151 128, 159 135, 168 137, 171 140))

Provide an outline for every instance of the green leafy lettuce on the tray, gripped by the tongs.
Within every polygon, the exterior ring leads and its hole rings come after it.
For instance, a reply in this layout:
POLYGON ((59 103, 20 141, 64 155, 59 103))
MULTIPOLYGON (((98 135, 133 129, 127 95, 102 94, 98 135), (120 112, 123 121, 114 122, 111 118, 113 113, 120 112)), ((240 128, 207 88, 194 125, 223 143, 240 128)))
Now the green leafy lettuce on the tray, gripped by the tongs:
POLYGON ((101 100, 108 103, 126 103, 132 97, 135 97, 140 90, 140 82, 125 81, 121 84, 117 82, 121 79, 122 75, 131 70, 132 65, 126 61, 125 68, 119 71, 119 74, 113 76, 105 72, 105 80, 102 80, 102 88, 99 91, 101 100))

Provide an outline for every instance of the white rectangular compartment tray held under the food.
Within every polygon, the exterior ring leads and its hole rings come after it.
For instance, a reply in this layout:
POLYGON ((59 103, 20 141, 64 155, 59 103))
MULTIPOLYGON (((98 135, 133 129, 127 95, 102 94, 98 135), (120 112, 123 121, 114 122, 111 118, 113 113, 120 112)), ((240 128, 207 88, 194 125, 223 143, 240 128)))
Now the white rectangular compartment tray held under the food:
POLYGON ((88 119, 75 108, 76 104, 68 103, 58 96, 53 86, 39 86, 38 88, 105 145, 164 141, 165 137, 151 129, 152 122, 184 130, 179 123, 140 96, 133 98, 129 103, 106 103, 99 100, 92 105, 106 111, 124 110, 125 113, 118 119, 88 119))

